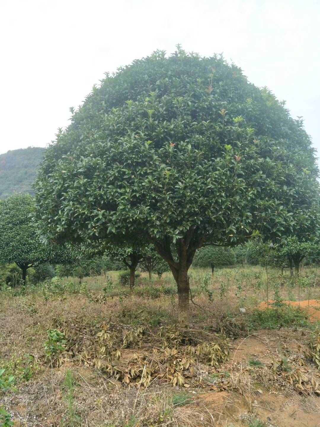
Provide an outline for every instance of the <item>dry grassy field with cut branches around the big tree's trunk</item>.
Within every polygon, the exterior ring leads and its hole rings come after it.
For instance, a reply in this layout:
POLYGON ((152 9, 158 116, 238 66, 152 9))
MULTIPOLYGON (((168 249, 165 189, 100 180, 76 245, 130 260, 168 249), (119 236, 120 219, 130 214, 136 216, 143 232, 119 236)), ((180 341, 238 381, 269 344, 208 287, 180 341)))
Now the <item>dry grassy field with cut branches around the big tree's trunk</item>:
POLYGON ((0 425, 318 425, 320 269, 190 269, 187 329, 171 274, 118 276, 2 288, 0 425))

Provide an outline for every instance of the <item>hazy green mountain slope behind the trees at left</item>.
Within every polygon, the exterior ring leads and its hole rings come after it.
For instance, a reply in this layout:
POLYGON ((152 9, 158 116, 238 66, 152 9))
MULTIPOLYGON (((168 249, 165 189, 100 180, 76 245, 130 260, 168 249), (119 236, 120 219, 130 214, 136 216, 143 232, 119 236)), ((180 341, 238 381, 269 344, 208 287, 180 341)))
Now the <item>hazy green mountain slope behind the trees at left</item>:
POLYGON ((28 147, 0 154, 0 199, 16 193, 32 194, 44 148, 28 147))

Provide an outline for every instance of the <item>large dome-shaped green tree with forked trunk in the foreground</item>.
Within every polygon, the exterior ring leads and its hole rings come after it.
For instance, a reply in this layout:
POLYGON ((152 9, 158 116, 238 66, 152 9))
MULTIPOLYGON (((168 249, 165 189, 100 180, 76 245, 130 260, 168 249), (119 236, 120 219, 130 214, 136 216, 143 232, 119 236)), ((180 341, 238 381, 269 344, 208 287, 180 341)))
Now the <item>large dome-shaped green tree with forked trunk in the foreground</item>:
POLYGON ((196 249, 290 233, 317 204, 303 123, 220 56, 154 52, 72 112, 35 186, 39 229, 48 239, 147 237, 169 263, 182 320, 196 249))

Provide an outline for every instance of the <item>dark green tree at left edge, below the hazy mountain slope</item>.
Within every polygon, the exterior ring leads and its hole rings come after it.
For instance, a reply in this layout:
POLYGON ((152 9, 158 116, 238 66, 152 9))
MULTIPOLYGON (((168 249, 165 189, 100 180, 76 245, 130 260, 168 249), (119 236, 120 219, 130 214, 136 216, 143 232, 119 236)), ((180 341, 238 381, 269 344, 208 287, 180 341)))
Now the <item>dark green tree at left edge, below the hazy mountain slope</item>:
POLYGON ((64 247, 41 242, 32 220, 34 209, 29 194, 0 200, 0 263, 16 263, 24 284, 29 267, 68 260, 64 247))

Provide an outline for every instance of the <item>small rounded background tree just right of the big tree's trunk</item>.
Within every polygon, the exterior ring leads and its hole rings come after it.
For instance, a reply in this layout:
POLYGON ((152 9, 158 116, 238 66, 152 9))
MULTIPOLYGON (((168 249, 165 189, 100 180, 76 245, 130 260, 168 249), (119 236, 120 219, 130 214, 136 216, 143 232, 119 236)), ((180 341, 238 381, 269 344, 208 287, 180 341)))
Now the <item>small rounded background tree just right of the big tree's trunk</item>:
POLYGON ((216 266, 227 266, 236 263, 236 255, 230 248, 219 248, 217 246, 205 246, 198 249, 193 258, 192 265, 195 267, 210 267, 212 274, 216 266))

